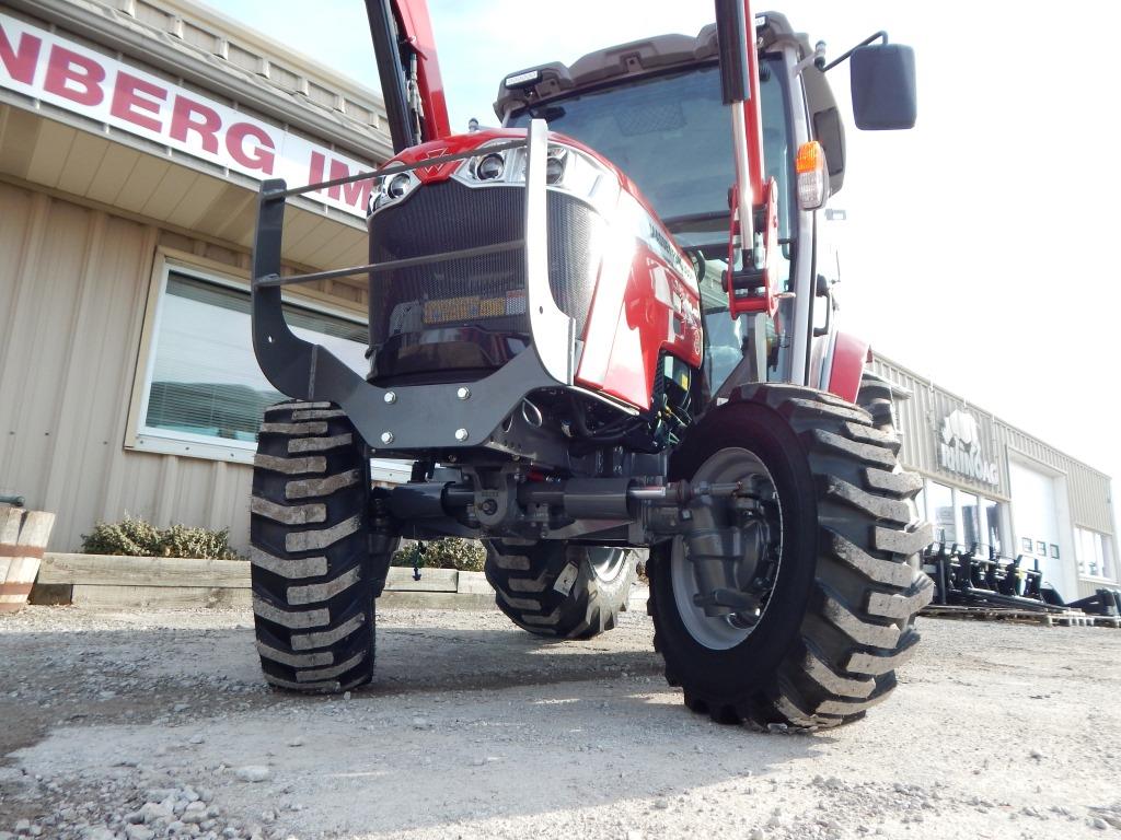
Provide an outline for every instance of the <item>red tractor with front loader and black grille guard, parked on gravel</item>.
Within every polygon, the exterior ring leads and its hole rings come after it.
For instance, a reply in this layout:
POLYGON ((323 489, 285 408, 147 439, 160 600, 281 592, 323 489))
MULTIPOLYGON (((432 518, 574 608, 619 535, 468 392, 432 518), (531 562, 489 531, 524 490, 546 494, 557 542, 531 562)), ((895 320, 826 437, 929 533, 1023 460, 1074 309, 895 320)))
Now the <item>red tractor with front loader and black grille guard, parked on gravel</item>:
POLYGON ((452 134, 424 0, 368 0, 396 156, 262 187, 253 342, 294 401, 266 412, 252 579, 266 679, 373 673, 401 538, 488 548, 498 606, 589 638, 648 552, 666 679, 725 722, 860 718, 915 648, 930 580, 891 391, 840 333, 819 231, 845 175, 825 74, 855 122, 915 122, 882 32, 827 63, 780 15, 513 73, 498 129, 452 134), (873 44, 873 41, 882 41, 873 44), (370 180, 370 262, 281 276, 285 199, 370 180), (369 370, 285 323, 281 287, 369 277, 369 370), (413 463, 370 482, 371 457, 413 463))

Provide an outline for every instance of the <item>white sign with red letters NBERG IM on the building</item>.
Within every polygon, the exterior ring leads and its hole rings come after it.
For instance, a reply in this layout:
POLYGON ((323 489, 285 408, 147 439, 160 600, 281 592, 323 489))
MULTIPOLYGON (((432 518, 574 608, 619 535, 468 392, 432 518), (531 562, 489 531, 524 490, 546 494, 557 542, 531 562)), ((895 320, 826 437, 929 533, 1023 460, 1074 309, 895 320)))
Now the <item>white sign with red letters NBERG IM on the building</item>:
MULTIPOLYGON (((0 86, 169 146, 257 180, 306 186, 353 175, 358 161, 74 41, 0 15, 0 86)), ((365 216, 369 180, 319 200, 365 216)))

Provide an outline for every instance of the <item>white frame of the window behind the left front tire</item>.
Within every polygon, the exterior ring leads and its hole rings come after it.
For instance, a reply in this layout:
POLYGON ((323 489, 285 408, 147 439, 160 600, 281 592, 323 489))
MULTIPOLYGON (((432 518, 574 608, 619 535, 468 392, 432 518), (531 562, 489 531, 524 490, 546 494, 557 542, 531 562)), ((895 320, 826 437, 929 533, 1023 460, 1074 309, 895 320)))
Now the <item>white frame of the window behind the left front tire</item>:
MULTIPOLYGON (((229 440, 219 444, 215 442, 214 438, 204 435, 194 435, 184 431, 173 432, 167 429, 154 429, 145 426, 145 420, 148 417, 148 400, 151 395, 151 377, 156 366, 156 351, 163 324, 164 304, 167 299, 167 281, 173 271, 177 274, 184 274, 185 277, 214 286, 249 292, 249 281, 245 278, 219 273, 184 260, 174 259, 167 254, 157 254, 152 272, 155 305, 149 312, 149 320, 145 330, 146 337, 138 357, 137 382, 139 383, 139 388, 133 392, 133 410, 129 412, 130 418, 124 448, 157 455, 177 455, 209 460, 232 461, 235 464, 252 464, 253 456, 257 454, 256 441, 229 440)), ((365 325, 365 320, 362 317, 354 311, 348 311, 343 307, 333 307, 303 296, 282 293, 281 298, 286 304, 298 306, 302 309, 308 309, 361 326, 365 325)), ((390 468, 389 464, 382 466, 379 461, 374 461, 374 477, 380 480, 407 480, 409 477, 407 469, 393 469, 390 468), (379 472, 392 474, 392 477, 378 475, 379 472), (398 476, 402 472, 404 479, 398 476)))

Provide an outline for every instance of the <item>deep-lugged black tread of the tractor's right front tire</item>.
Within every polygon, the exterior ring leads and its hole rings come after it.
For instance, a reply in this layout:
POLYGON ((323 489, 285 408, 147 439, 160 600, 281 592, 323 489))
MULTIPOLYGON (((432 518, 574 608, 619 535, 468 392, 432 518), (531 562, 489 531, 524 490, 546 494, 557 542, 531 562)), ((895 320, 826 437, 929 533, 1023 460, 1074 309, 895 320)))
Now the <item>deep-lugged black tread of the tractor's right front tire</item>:
MULTIPOLYGON (((740 401, 770 410, 776 422, 785 419, 808 461, 818 523, 810 591, 777 666, 726 679, 683 656, 678 642, 669 643, 667 633, 683 632, 671 603, 669 551, 651 552, 647 612, 655 619, 655 647, 666 657, 666 680, 684 688, 689 709, 717 722, 815 730, 858 720, 893 690, 895 669, 918 643, 915 616, 933 596, 932 581, 914 563, 930 539, 929 525, 910 523, 908 503, 921 482, 898 467, 890 391, 877 384, 861 399, 870 410, 790 385, 748 386, 740 401), (670 603, 659 601, 659 595, 670 603)), ((734 404, 717 411, 728 410, 734 412, 734 404)), ((711 431, 700 428, 695 438, 711 431)), ((705 444, 686 438, 682 450, 691 446, 684 460, 697 460, 695 469, 705 444)))

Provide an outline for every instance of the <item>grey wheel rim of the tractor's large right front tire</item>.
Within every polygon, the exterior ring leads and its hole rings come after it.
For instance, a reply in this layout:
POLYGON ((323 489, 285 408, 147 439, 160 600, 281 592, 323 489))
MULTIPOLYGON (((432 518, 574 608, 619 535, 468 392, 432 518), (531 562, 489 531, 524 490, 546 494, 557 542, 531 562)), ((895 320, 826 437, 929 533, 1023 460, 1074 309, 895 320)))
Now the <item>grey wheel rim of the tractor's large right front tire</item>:
POLYGON ((693 564, 685 556, 685 541, 677 536, 673 542, 669 561, 670 585, 682 624, 697 644, 713 651, 726 651, 742 644, 767 614, 782 557, 782 506, 770 472, 754 452, 747 449, 721 449, 701 465, 693 482, 742 482, 745 486, 754 487, 761 497, 769 497, 773 503, 770 505, 775 511, 775 521, 771 522, 772 540, 768 543, 769 553, 773 554, 773 559, 767 563, 769 586, 761 592, 761 609, 750 625, 738 620, 734 615, 705 615, 704 609, 694 603, 694 596, 701 592, 693 564))

